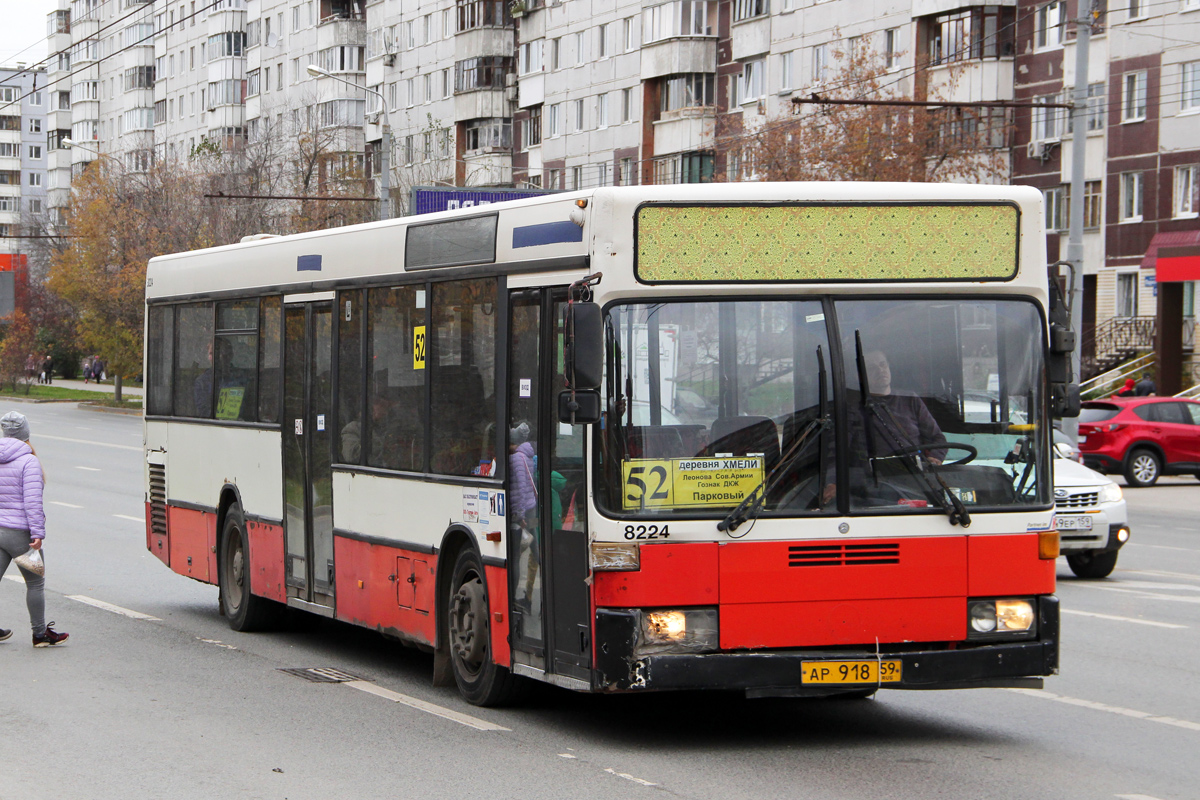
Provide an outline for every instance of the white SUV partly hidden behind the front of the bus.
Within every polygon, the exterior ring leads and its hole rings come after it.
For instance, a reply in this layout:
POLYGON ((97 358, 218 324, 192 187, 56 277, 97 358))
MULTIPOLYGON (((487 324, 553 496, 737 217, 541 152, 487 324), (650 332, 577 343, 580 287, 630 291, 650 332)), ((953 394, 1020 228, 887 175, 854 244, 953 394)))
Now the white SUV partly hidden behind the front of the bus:
POLYGON ((1060 551, 1080 578, 1106 578, 1129 541, 1121 487, 1105 475, 1055 453, 1054 501, 1060 551))

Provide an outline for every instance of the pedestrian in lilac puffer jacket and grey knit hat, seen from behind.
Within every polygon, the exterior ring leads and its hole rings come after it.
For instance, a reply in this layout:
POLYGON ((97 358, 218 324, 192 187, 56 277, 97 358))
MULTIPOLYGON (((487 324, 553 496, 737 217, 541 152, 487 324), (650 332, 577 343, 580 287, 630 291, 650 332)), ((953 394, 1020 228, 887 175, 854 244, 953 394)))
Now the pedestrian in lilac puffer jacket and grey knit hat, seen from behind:
MULTIPOLYGON (((30 548, 42 549, 46 537, 46 512, 42 510, 42 463, 29 445, 29 421, 24 414, 8 411, 0 416, 0 578, 8 563, 30 548)), ((20 565, 18 564, 18 567, 20 565)), ((46 578, 20 567, 25 578, 25 604, 34 628, 34 646, 47 648, 66 642, 46 624, 46 578)), ((0 640, 12 631, 0 628, 0 640)))

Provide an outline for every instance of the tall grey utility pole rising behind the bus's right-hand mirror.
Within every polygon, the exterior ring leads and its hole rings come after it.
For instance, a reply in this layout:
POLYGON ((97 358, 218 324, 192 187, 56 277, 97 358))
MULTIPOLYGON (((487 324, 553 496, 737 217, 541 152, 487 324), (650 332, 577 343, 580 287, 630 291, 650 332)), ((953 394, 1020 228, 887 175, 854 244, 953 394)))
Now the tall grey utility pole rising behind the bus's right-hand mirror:
MULTIPOLYGON (((1084 170, 1087 164, 1087 48, 1092 40, 1092 2, 1079 4, 1075 19, 1075 90, 1072 94, 1070 120, 1070 219, 1067 230, 1067 261, 1072 265, 1068 302, 1070 329, 1075 331, 1075 351, 1070 367, 1075 381, 1082 379, 1084 351, 1084 170)), ((1062 421, 1063 433, 1072 441, 1079 439, 1079 422, 1062 421)))

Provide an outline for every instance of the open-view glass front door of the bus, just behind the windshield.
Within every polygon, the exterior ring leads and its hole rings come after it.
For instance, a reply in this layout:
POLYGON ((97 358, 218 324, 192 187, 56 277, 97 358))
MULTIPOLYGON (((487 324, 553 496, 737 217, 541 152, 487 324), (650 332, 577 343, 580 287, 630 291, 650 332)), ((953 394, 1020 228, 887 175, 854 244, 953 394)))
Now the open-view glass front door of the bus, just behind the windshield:
POLYGON ((583 439, 554 416, 563 389, 565 295, 509 300, 509 579, 518 664, 589 681, 590 601, 583 439))

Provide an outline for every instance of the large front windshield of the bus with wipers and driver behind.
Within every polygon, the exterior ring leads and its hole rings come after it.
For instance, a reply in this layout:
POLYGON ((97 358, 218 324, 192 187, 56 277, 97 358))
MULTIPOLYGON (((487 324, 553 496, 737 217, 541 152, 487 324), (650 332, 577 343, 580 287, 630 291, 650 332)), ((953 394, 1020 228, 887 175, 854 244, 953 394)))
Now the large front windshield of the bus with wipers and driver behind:
POLYGON ((722 517, 756 488, 764 517, 1049 505, 1042 327, 1024 300, 611 306, 600 506, 722 517))

